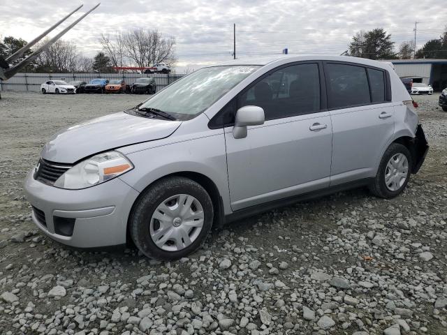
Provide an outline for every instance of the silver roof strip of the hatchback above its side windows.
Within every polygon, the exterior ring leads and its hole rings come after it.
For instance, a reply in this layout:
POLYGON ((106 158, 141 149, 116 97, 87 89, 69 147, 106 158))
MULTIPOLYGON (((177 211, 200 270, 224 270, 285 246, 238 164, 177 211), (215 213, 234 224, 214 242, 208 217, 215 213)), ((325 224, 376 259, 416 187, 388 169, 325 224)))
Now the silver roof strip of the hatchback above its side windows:
POLYGON ((231 65, 258 65, 265 66, 270 63, 288 63, 294 61, 347 61, 350 63, 358 63, 367 66, 375 66, 377 68, 386 68, 389 70, 392 68, 389 62, 385 61, 374 61, 372 59, 365 59, 359 57, 349 57, 349 56, 336 56, 336 55, 322 55, 322 54, 279 54, 270 57, 247 57, 242 59, 235 59, 233 61, 226 61, 220 64, 215 64, 213 66, 231 66, 231 65))

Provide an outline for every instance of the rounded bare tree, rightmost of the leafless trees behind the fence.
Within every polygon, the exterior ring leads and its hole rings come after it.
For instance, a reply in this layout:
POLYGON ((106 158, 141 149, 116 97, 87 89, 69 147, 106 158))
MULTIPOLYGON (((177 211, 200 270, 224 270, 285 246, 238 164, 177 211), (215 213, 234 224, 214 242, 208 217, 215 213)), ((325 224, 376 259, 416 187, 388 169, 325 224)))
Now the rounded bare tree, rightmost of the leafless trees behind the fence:
POLYGON ((175 38, 163 37, 159 31, 135 29, 122 35, 126 57, 137 66, 166 62, 174 64, 175 38))

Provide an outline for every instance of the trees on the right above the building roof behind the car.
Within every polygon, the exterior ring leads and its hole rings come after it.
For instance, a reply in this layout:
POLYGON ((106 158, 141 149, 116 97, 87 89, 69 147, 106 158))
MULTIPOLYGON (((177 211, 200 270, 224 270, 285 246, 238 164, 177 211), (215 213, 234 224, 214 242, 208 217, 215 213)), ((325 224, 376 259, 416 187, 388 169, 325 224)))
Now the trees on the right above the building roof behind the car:
POLYGON ((383 28, 359 31, 352 37, 346 54, 367 59, 447 59, 447 26, 439 38, 428 40, 419 50, 414 40, 402 42, 397 52, 395 44, 383 28))

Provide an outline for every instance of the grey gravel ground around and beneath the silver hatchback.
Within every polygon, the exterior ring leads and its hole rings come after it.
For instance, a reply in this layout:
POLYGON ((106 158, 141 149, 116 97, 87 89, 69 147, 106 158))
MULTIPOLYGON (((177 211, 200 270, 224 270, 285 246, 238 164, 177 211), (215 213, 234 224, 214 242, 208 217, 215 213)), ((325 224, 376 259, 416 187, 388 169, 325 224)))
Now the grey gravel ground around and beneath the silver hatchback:
POLYGON ((446 334, 447 113, 415 97, 430 142, 393 200, 363 189, 214 230, 178 262, 43 237, 22 182, 50 135, 142 96, 0 101, 1 334, 446 334))

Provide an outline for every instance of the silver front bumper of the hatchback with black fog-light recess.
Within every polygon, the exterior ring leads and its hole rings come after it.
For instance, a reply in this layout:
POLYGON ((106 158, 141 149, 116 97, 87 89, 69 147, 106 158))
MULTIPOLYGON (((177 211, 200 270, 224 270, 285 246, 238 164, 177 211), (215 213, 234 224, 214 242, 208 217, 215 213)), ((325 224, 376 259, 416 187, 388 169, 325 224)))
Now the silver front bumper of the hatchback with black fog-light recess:
POLYGON ((124 181, 115 178, 82 190, 64 190, 36 181, 33 172, 25 180, 24 192, 34 207, 34 223, 48 237, 78 248, 126 243, 127 219, 139 193, 124 181), (74 220, 70 236, 58 229, 60 218, 74 220))

